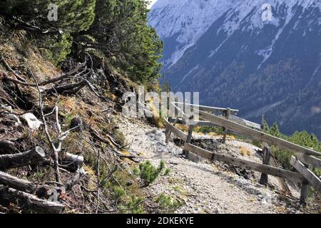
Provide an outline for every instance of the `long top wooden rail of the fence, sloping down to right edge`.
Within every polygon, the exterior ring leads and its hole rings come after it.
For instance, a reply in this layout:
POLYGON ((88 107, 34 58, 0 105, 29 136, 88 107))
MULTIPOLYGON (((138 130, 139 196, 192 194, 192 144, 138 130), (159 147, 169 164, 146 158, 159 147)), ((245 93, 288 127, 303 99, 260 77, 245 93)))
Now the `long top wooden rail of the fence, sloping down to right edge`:
POLYGON ((321 156, 321 153, 316 152, 315 150, 296 145, 292 142, 287 142, 286 140, 282 140, 272 135, 268 135, 266 133, 260 132, 259 130, 254 130, 252 128, 240 125, 238 123, 234 123, 233 121, 226 120, 225 118, 220 118, 216 115, 208 114, 201 110, 199 110, 199 113, 200 116, 203 117, 205 120, 208 120, 216 125, 220 125, 224 128, 228 128, 229 130, 235 131, 236 133, 240 133, 241 135, 245 135, 246 137, 251 138, 253 140, 267 142, 270 145, 275 145, 277 147, 280 147, 281 149, 290 150, 292 152, 299 152, 306 155, 321 156))

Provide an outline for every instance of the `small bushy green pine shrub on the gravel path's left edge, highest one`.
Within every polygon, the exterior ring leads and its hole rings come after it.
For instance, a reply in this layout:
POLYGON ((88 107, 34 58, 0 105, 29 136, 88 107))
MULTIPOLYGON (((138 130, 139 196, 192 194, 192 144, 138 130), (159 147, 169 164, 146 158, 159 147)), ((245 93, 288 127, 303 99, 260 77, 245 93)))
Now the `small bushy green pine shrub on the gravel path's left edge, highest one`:
POLYGON ((139 164, 140 177, 145 186, 151 185, 160 173, 165 169, 165 162, 161 160, 158 167, 155 167, 150 160, 139 164))

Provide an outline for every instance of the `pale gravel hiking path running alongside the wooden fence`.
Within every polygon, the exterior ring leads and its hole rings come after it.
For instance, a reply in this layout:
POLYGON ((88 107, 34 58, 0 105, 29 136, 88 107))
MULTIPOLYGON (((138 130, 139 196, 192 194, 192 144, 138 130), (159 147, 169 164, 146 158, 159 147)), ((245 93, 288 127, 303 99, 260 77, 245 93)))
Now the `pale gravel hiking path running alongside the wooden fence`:
MULTIPOLYGON (((169 177, 160 177, 148 187, 153 194, 164 192, 175 195, 185 205, 177 213, 280 213, 297 212, 277 199, 267 187, 253 180, 226 172, 210 162, 191 162, 183 158, 181 148, 173 142, 165 144, 164 133, 152 128, 143 120, 121 118, 119 127, 128 142, 130 151, 158 165, 160 160, 170 167, 169 177), (156 157, 155 157, 156 156, 156 157)), ((254 146, 239 142, 254 151, 254 146)))

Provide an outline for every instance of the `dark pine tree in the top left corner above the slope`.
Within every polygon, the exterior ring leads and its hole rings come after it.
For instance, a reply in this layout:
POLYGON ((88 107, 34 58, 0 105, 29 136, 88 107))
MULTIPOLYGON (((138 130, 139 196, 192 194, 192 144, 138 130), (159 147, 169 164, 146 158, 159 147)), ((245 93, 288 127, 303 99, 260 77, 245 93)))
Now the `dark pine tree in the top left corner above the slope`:
POLYGON ((58 64, 71 53, 73 33, 86 31, 93 23, 96 0, 5 0, 0 6, 0 14, 11 24, 35 33, 37 45, 58 64), (48 19, 51 3, 58 6, 58 21, 48 19))

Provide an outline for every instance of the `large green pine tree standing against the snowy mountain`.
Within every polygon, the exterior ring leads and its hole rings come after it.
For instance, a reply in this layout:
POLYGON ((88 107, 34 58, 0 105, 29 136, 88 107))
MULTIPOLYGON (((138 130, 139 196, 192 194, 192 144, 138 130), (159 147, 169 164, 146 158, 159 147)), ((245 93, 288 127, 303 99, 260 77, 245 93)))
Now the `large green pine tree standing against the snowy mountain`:
POLYGON ((97 0, 96 19, 88 35, 89 46, 100 48, 133 81, 146 83, 159 77, 162 43, 147 25, 143 0, 97 0))

